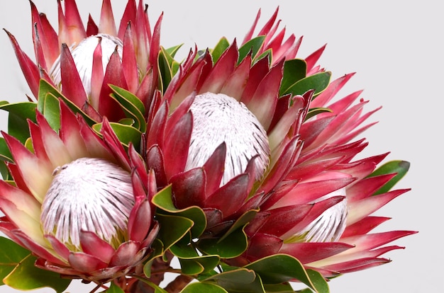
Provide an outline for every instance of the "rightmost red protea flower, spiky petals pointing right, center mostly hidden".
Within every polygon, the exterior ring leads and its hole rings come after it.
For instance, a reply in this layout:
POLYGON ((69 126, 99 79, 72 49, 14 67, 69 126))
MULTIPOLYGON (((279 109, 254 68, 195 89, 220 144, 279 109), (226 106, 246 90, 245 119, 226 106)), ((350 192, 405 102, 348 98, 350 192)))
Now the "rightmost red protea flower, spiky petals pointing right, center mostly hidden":
POLYGON ((247 260, 287 253, 326 277, 388 263, 380 255, 401 248, 384 246, 414 231, 369 234, 389 218, 370 214, 408 191, 389 188, 409 168, 394 161, 374 172, 387 156, 382 154, 353 161, 367 143, 353 142, 370 125, 362 125, 370 113, 362 108, 360 91, 330 103, 353 76, 333 81, 311 101, 311 107, 331 112, 311 117, 299 125, 301 145, 296 163, 261 204, 261 212, 248 227, 250 246, 247 260), (392 168, 401 174, 390 173, 392 168), (374 173, 373 173, 374 172, 374 173), (387 185, 386 185, 387 184, 387 185), (327 209, 326 209, 327 207, 327 209))

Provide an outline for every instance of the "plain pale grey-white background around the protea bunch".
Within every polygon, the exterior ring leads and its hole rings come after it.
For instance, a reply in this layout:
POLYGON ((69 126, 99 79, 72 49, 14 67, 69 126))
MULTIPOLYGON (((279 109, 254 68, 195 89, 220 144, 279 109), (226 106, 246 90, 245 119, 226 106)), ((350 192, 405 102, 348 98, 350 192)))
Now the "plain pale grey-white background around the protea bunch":
MULTIPOLYGON (((77 0, 86 23, 91 13, 98 21, 100 0, 77 0)), ((111 1, 120 21, 126 1, 111 1)), ((320 64, 333 77, 357 74, 341 93, 364 88, 367 110, 383 105, 372 118, 379 124, 365 133, 370 146, 363 156, 391 151, 388 159, 411 162, 411 171, 397 185, 412 188, 377 212, 393 219, 378 231, 407 229, 419 234, 394 243, 392 263, 343 275, 330 282, 331 292, 441 292, 443 253, 443 16, 439 1, 159 1, 152 0, 152 23, 165 12, 162 45, 184 42, 179 54, 194 43, 213 47, 225 35, 243 40, 262 7, 264 23, 277 6, 287 33, 304 35, 299 57, 327 43, 320 64)), ((57 21, 56 1, 35 0, 39 11, 57 21)), ((33 57, 28 1, 1 1, 0 27, 16 35, 33 57)), ((287 34, 288 35, 288 34, 287 34)), ((30 95, 6 33, 0 34, 0 100, 23 101, 30 95)), ((1 128, 6 113, 1 113, 1 128)), ((70 292, 89 287, 70 286, 70 292)), ((0 287, 0 292, 15 292, 0 287)), ((52 292, 41 289, 38 292, 52 292)))

